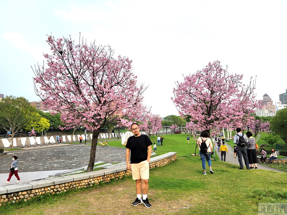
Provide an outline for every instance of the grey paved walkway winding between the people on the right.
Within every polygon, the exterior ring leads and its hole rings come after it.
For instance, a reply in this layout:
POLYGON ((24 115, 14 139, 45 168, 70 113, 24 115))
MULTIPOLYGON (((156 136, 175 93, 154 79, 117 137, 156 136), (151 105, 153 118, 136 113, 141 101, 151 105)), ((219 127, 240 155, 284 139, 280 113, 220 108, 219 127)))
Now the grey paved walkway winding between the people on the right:
MULTIPOLYGON (((233 141, 233 140, 231 140, 233 141)), ((238 168, 239 168, 239 161, 238 161, 238 158, 234 158, 234 149, 233 149, 233 146, 235 144, 233 144, 233 142, 229 142, 229 144, 232 145, 232 147, 228 144, 225 143, 225 145, 227 146, 227 149, 228 149, 228 153, 226 153, 226 159, 225 161, 228 162, 228 163, 232 163, 232 164, 235 164, 235 165, 238 165, 238 168)), ((217 150, 217 144, 216 144, 216 148, 215 148, 216 152, 217 152, 217 155, 219 157, 219 160, 221 160, 221 154, 220 152, 218 152, 217 150)), ((224 161, 222 161, 224 162, 224 161)), ((244 165, 244 169, 246 169, 245 167, 245 163, 244 163, 244 159, 242 158, 242 162, 243 162, 243 165, 244 165)), ((250 166, 250 164, 249 164, 250 166)), ((255 167, 255 166, 254 166, 255 167)), ((283 171, 280 171, 279 169, 274 169, 274 168, 271 168, 271 167, 266 167, 266 166, 263 166, 263 165, 260 165, 259 163, 257 164, 257 168, 258 169, 265 169, 265 170, 271 170, 271 171, 275 171, 275 172, 283 172, 283 171)), ((254 170, 255 171, 255 170, 254 170)))

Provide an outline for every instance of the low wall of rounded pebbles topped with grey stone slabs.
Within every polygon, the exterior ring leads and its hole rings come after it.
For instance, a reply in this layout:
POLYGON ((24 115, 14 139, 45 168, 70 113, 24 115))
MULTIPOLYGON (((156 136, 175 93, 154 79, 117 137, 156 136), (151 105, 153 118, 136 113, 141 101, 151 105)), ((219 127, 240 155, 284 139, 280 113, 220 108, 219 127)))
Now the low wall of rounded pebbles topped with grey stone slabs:
MULTIPOLYGON (((165 166, 175 161, 177 158, 176 154, 176 152, 169 152, 164 155, 152 157, 150 159, 150 169, 165 166)), ((26 202, 27 200, 46 193, 60 194, 68 190, 94 187, 99 185, 100 182, 108 183, 112 179, 119 180, 123 177, 129 177, 132 174, 126 165, 114 164, 104 168, 105 169, 88 173, 49 177, 27 183, 0 186, 0 206, 19 201, 26 202)))

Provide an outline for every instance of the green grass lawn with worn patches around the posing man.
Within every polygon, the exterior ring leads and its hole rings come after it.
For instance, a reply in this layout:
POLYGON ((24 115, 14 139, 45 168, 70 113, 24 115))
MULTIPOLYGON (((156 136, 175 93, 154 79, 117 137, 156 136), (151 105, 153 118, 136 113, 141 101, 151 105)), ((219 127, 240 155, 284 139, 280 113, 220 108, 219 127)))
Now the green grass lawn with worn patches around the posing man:
MULTIPOLYGON (((150 170, 148 198, 152 208, 131 206, 136 198, 131 177, 92 189, 80 189, 0 207, 0 214, 257 214, 258 203, 287 203, 286 173, 238 170, 213 161, 214 174, 203 175, 193 140, 186 134, 164 135, 157 155, 177 152, 177 160, 150 170)), ((151 136, 156 142, 156 136, 151 136)), ((110 146, 124 148, 121 141, 110 146)), ((198 153, 198 148, 197 148, 198 153)))

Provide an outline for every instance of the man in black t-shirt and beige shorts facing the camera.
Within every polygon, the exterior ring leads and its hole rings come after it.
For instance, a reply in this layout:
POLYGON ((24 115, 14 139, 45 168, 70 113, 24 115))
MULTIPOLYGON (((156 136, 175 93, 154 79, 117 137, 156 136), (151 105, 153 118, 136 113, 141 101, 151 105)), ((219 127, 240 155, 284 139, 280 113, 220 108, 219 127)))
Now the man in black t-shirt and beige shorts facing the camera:
POLYGON ((150 155, 152 153, 152 142, 145 134, 139 133, 139 125, 133 123, 131 130, 134 136, 129 137, 127 140, 126 158, 127 169, 131 169, 133 180, 135 180, 135 187, 137 190, 137 198, 131 204, 137 206, 144 203, 147 208, 152 205, 148 201, 148 179, 149 179, 149 163, 150 155), (129 154, 131 152, 131 163, 129 163, 129 154), (141 198, 141 190, 143 191, 143 198, 141 198))

